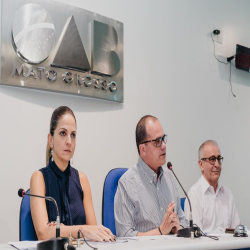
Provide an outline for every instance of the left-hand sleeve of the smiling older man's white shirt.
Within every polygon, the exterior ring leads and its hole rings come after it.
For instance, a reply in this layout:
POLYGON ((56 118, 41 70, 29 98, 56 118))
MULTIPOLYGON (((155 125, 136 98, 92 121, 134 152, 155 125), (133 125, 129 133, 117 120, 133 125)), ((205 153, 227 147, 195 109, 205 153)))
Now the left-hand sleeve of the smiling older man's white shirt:
MULTIPOLYGON (((201 230, 203 230, 202 223, 201 223, 201 221, 202 221, 202 208, 200 206, 199 199, 192 189, 188 192, 188 197, 189 197, 191 205, 192 205, 193 223, 196 224, 201 230)), ((187 198, 185 200, 184 211, 185 211, 186 218, 189 219, 190 207, 189 207, 189 202, 188 202, 187 198)))

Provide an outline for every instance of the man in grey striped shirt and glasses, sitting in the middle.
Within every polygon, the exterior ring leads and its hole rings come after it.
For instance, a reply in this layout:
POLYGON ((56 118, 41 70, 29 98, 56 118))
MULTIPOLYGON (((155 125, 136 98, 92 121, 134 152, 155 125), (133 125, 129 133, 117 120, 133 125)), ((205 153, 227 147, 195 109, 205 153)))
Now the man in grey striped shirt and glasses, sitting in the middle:
POLYGON ((175 234, 187 226, 172 173, 162 167, 166 138, 156 117, 138 122, 138 163, 121 177, 115 196, 117 236, 175 234))

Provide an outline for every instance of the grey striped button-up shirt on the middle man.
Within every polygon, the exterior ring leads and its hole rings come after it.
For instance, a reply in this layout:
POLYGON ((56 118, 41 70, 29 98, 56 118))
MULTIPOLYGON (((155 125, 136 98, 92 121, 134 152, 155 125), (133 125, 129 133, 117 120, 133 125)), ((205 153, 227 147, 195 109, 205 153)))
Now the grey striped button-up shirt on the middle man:
POLYGON ((157 174, 139 157, 119 180, 114 203, 117 236, 136 236, 158 228, 171 201, 180 225, 188 226, 172 173, 162 167, 159 171, 157 181, 157 174))

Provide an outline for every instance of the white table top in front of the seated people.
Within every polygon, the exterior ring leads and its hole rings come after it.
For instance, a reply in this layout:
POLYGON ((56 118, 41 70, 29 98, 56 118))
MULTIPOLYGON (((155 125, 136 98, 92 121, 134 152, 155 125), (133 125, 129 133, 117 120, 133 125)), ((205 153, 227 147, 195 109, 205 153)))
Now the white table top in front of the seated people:
MULTIPOLYGON (((212 240, 206 237, 197 239, 177 238, 175 236, 167 239, 162 239, 159 236, 157 240, 129 240, 125 243, 90 243, 98 248, 98 250, 163 250, 163 249, 178 249, 178 250, 211 250, 211 249, 250 249, 250 237, 236 238, 233 235, 219 237, 219 240, 212 240)), ((14 250, 15 248, 8 244, 0 244, 0 250, 14 250)), ((86 244, 82 245, 79 250, 92 250, 86 244)))

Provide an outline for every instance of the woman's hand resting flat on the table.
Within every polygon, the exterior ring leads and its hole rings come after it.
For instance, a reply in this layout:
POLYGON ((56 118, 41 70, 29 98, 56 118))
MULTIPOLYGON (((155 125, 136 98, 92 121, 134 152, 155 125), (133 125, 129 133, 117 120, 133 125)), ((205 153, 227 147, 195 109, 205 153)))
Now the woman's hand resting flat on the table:
POLYGON ((81 228, 83 236, 93 241, 115 241, 115 235, 104 226, 84 225, 81 228))

